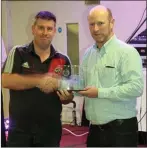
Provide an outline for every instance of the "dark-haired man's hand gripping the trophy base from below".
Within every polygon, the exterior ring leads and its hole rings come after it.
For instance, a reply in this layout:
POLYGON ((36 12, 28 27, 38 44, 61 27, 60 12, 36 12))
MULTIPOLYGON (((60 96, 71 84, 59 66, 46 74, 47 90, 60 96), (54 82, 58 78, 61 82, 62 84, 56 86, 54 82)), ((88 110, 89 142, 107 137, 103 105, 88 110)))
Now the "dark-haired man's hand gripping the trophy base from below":
POLYGON ((74 98, 73 93, 69 92, 68 90, 58 90, 57 95, 60 97, 60 100, 62 102, 64 102, 64 101, 70 102, 74 98))

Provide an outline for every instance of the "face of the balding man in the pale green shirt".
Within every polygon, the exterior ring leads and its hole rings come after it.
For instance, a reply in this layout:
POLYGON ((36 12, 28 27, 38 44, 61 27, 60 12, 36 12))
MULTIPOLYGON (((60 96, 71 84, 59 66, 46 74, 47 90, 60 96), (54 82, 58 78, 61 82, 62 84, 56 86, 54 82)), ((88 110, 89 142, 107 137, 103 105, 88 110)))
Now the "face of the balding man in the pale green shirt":
POLYGON ((89 29, 97 44, 104 44, 113 31, 114 20, 107 13, 93 13, 88 17, 89 29))

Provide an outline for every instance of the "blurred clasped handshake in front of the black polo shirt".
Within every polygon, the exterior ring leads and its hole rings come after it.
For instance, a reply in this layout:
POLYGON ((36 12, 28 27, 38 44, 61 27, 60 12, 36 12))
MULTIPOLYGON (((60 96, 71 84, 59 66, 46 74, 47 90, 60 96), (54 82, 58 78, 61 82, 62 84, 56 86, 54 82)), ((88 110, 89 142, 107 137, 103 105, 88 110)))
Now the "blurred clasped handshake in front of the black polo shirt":
POLYGON ((59 86, 59 81, 60 80, 58 78, 52 77, 50 75, 45 75, 40 78, 37 87, 45 93, 50 93, 57 90, 59 86))

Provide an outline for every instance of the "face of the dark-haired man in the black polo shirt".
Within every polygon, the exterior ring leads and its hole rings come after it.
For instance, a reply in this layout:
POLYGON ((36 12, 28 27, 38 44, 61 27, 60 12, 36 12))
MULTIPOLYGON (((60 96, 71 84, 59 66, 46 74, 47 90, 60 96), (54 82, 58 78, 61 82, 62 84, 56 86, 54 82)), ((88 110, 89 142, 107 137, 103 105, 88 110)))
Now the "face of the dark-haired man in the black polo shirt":
POLYGON ((41 49, 47 49, 56 33, 55 22, 53 20, 37 19, 32 26, 32 34, 35 43, 41 49))

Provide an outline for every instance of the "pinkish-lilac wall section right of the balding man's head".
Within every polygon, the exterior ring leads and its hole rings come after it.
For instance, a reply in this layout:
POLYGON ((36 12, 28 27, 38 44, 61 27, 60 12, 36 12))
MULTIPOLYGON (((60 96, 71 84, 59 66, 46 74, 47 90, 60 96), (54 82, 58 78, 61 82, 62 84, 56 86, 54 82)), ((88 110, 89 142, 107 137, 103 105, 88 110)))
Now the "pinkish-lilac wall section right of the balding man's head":
MULTIPOLYGON (((112 9, 115 18, 115 33, 123 41, 126 41, 136 29, 146 8, 146 1, 102 1, 101 4, 112 9)), ((145 17, 146 12, 143 20, 145 17)), ((145 28, 146 23, 138 30, 137 34, 145 30, 145 28)))

